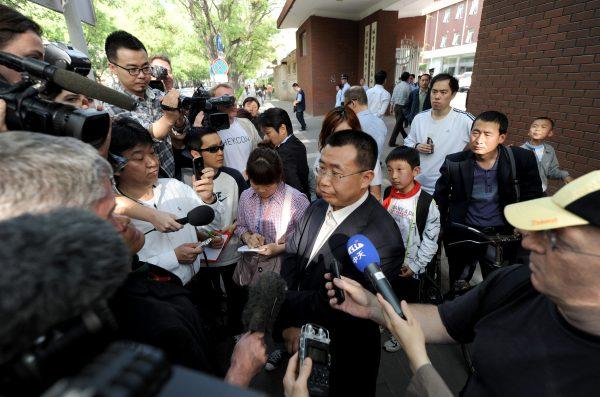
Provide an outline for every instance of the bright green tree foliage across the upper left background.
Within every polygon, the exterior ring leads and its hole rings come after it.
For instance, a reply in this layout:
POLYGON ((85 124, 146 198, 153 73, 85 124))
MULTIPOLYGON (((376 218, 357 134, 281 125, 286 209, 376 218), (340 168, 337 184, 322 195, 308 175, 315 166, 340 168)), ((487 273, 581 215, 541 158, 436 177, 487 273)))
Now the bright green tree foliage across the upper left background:
MULTIPOLYGON (((96 26, 83 24, 83 31, 97 75, 108 69, 106 36, 123 29, 138 37, 149 55, 171 58, 178 81, 209 78, 210 61, 217 56, 215 38, 221 34, 230 78, 240 81, 273 58, 271 39, 277 32, 271 18, 273 1, 94 0, 96 26)), ((44 39, 69 42, 63 15, 26 0, 0 0, 0 4, 17 8, 39 23, 44 39)))

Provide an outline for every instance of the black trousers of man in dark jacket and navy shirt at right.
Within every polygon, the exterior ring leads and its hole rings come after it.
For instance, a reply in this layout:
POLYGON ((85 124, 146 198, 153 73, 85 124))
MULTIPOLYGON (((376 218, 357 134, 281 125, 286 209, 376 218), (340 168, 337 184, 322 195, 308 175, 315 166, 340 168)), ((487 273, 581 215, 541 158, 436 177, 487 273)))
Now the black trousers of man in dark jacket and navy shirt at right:
MULTIPOLYGON (((510 225, 486 229, 476 226, 473 227, 486 235, 512 234, 513 231, 513 227, 510 225)), ((453 288, 454 282, 457 280, 469 281, 471 277, 473 277, 477 262, 479 262, 481 275, 484 279, 488 274, 495 270, 489 263, 489 260, 486 260, 486 257, 488 257, 486 256, 488 249, 493 250, 491 245, 465 242, 463 244, 448 246, 449 243, 463 240, 483 241, 481 238, 468 231, 460 229, 448 229, 444 231, 444 248, 446 250, 446 255, 448 256, 450 288, 453 288)), ((508 260, 509 264, 515 263, 519 247, 520 242, 505 244, 502 251, 504 260, 508 260)))

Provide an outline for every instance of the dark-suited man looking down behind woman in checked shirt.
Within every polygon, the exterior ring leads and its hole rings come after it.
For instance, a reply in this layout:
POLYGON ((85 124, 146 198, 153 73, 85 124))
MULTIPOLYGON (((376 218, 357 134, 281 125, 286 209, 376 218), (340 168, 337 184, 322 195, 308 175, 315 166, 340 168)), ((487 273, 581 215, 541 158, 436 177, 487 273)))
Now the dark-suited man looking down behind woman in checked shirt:
POLYGON ((259 125, 265 139, 281 157, 285 183, 310 200, 306 146, 294 135, 290 116, 281 108, 270 108, 260 115, 259 125))

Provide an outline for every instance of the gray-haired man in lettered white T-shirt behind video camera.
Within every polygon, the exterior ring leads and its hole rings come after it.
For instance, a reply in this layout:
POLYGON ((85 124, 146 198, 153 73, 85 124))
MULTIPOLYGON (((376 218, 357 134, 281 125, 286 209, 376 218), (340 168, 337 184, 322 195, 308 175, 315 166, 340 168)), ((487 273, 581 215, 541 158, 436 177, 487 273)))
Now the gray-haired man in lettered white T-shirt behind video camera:
MULTIPOLYGON (((210 90, 211 97, 223 95, 234 96, 233 87, 227 83, 217 84, 210 90)), ((250 120, 237 117, 237 107, 235 104, 228 108, 219 107, 219 111, 229 115, 229 128, 218 131, 223 144, 225 145, 225 166, 238 170, 246 178, 246 163, 252 150, 256 149, 261 142, 258 131, 250 120)), ((199 117, 203 117, 200 112, 196 117, 196 123, 199 125, 199 117)))

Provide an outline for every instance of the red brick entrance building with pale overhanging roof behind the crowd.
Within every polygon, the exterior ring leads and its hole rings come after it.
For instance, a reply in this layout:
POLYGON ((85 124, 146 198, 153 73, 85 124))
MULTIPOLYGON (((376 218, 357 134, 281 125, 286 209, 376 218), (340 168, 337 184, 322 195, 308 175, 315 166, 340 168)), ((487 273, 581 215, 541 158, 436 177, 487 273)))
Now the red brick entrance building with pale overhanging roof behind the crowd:
POLYGON ((378 70, 386 88, 408 70, 417 74, 425 37, 422 9, 433 0, 287 0, 277 26, 297 28, 298 83, 307 111, 324 114, 335 103, 342 73, 350 84, 365 78, 373 86, 378 70))

